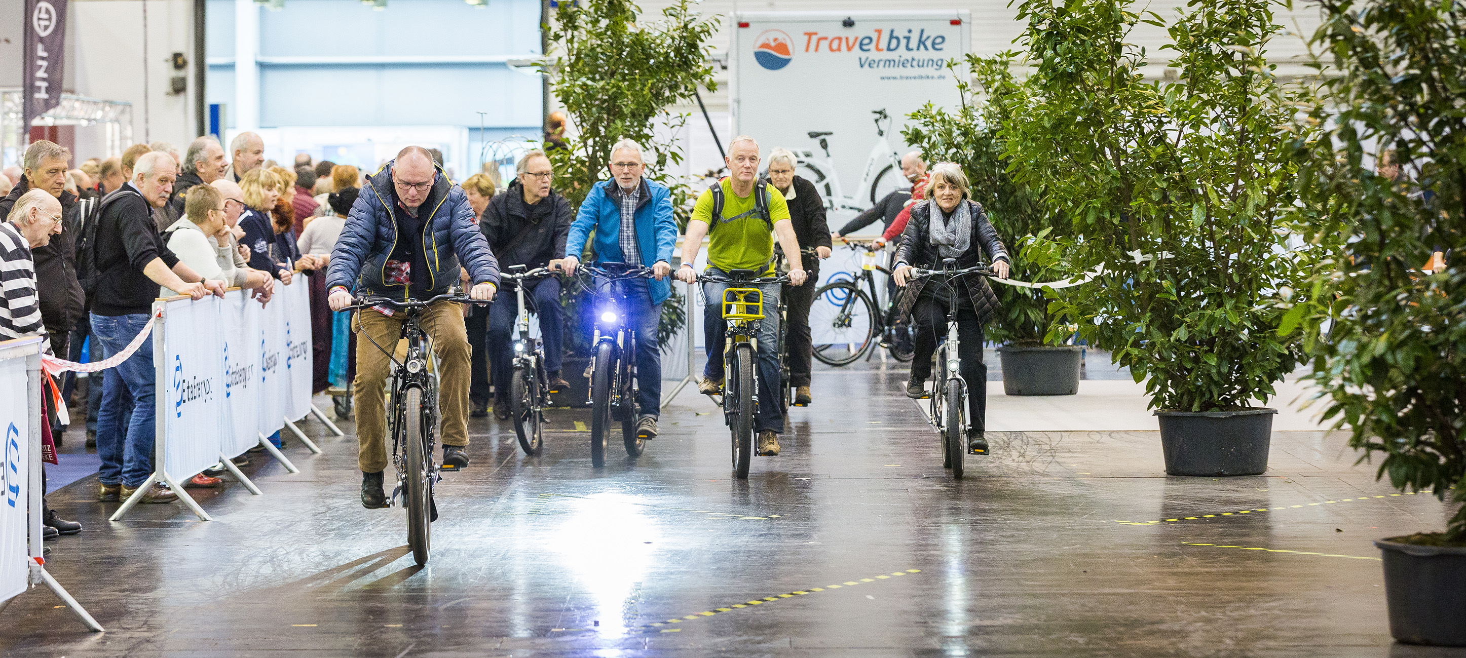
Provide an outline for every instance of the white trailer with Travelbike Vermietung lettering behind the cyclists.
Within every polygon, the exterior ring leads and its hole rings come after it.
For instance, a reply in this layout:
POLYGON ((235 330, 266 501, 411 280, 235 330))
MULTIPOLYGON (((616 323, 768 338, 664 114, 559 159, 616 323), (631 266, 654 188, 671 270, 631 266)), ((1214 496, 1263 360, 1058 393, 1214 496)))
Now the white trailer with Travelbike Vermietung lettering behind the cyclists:
POLYGON ((947 62, 970 48, 968 10, 737 12, 734 22, 733 133, 765 157, 793 151, 831 227, 910 186, 902 127, 928 101, 960 103, 947 62))

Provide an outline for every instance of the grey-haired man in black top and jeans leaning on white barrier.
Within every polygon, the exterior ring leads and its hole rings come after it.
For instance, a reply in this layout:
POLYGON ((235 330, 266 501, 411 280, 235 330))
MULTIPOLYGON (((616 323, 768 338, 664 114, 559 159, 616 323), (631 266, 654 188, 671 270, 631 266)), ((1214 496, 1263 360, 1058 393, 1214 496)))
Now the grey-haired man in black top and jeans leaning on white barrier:
MULTIPOLYGON (((91 299, 92 337, 103 358, 122 353, 148 325, 158 286, 194 299, 224 296, 224 281, 204 280, 163 243, 154 212, 169 202, 177 164, 166 152, 148 152, 133 177, 103 199, 78 251, 81 283, 91 299)), ((152 341, 107 374, 97 415, 101 488, 97 500, 129 498, 152 475, 154 440, 152 341)), ((144 503, 172 503, 177 494, 158 482, 144 503)))

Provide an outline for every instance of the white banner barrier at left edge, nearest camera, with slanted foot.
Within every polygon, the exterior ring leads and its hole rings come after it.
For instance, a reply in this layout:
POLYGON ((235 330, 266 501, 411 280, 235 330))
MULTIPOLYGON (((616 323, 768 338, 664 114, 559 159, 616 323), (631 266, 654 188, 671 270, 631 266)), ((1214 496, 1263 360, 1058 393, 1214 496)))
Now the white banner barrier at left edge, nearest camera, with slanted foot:
POLYGON ((0 608, 45 583, 88 629, 103 627, 45 572, 41 550, 41 340, 0 343, 0 608))

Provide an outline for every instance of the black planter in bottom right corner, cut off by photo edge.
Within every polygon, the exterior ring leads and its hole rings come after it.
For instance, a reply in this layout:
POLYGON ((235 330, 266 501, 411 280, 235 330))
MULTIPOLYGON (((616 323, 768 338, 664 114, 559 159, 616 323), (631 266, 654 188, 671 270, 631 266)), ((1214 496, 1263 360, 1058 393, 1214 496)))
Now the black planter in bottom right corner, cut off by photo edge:
POLYGON ((1410 645, 1466 646, 1466 548, 1391 539, 1375 547, 1384 554, 1390 635, 1410 645))

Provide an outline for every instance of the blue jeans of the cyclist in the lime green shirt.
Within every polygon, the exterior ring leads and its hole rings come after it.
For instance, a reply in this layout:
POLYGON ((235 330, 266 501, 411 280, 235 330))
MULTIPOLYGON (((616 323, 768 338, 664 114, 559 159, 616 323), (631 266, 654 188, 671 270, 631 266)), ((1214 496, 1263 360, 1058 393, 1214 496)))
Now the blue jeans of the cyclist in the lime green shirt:
MULTIPOLYGON (((708 267, 708 274, 726 277, 723 270, 708 267)), ((723 378, 723 344, 727 341, 724 331, 727 321, 723 319, 723 290, 733 286, 726 283, 702 283, 702 340, 708 349, 708 365, 702 368, 702 377, 711 380, 723 378)), ((755 365, 758 380, 758 412, 754 416, 754 429, 784 432, 784 415, 778 410, 778 293, 781 286, 765 283, 756 287, 764 292, 764 319, 758 322, 758 363, 755 365)))

